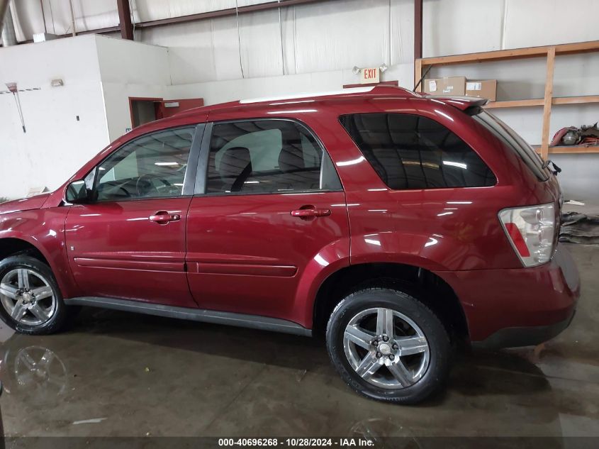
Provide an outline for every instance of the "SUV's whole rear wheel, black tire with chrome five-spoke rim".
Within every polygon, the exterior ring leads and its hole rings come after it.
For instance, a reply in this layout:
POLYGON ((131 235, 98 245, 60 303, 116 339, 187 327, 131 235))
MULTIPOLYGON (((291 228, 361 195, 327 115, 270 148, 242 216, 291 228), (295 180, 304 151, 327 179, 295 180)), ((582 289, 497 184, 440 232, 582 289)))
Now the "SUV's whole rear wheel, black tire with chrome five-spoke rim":
POLYGON ((327 349, 342 379, 362 396, 418 404, 447 382, 452 345, 437 315, 400 289, 360 289, 345 297, 330 316, 327 349))

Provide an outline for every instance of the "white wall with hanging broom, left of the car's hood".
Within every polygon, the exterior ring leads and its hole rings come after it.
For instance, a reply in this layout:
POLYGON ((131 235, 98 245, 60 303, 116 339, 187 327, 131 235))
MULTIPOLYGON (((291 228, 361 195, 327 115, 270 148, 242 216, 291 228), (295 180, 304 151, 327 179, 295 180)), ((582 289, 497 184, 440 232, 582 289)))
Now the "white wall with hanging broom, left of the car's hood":
POLYGON ((18 94, 26 133, 13 95, 0 95, 0 196, 55 189, 108 143, 93 35, 0 48, 0 82, 40 89, 18 94))

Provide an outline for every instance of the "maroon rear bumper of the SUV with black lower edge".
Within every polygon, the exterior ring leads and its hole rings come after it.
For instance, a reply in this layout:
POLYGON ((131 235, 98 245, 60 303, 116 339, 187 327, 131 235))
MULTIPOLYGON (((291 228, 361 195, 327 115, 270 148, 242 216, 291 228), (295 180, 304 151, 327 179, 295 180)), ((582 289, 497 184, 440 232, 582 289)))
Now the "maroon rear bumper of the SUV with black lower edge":
POLYGON ((539 267, 437 272, 456 292, 474 346, 537 345, 564 331, 580 296, 576 265, 564 245, 539 267))

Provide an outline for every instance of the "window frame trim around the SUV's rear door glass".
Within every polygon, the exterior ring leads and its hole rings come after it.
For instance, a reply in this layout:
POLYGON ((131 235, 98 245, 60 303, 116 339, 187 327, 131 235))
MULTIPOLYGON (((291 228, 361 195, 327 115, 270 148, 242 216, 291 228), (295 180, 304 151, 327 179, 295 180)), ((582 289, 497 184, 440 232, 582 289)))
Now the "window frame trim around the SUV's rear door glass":
MULTIPOLYGON (((206 193, 206 182, 208 179, 208 159, 210 157, 210 143, 212 140, 212 133, 214 125, 226 124, 226 123, 242 123, 247 121, 289 121, 291 123, 295 123, 298 126, 301 126, 309 135, 312 136, 314 141, 320 147, 320 150, 323 151, 326 155, 328 155, 329 159, 332 161, 330 157, 330 153, 327 148, 323 144, 323 141, 320 140, 318 135, 312 131, 312 129, 296 118, 288 118, 288 117, 257 117, 257 118, 235 118, 233 120, 219 120, 219 121, 211 121, 206 123, 206 129, 204 131, 202 145, 200 150, 200 162, 198 165, 198 171, 196 174, 196 189, 194 195, 196 196, 253 196, 253 195, 297 195, 297 194, 320 194, 320 193, 329 193, 329 192, 345 192, 343 187, 343 183, 341 181, 341 177, 339 172, 337 171, 337 166, 335 162, 332 162, 333 170, 335 170, 335 174, 337 174, 337 179, 339 179, 339 184, 341 186, 340 189, 319 189, 319 190, 290 190, 289 192, 210 192, 206 193)), ((323 172, 323 163, 322 160, 320 162, 320 175, 322 176, 323 172)))

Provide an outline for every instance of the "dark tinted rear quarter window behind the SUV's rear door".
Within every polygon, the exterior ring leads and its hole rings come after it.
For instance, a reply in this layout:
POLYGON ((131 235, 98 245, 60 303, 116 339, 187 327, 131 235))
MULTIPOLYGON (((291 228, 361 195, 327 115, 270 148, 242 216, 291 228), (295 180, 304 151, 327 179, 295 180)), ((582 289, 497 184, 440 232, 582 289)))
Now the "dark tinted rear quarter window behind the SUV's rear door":
POLYGON ((497 179, 457 135, 407 113, 340 116, 342 126, 391 189, 488 187, 497 179))

